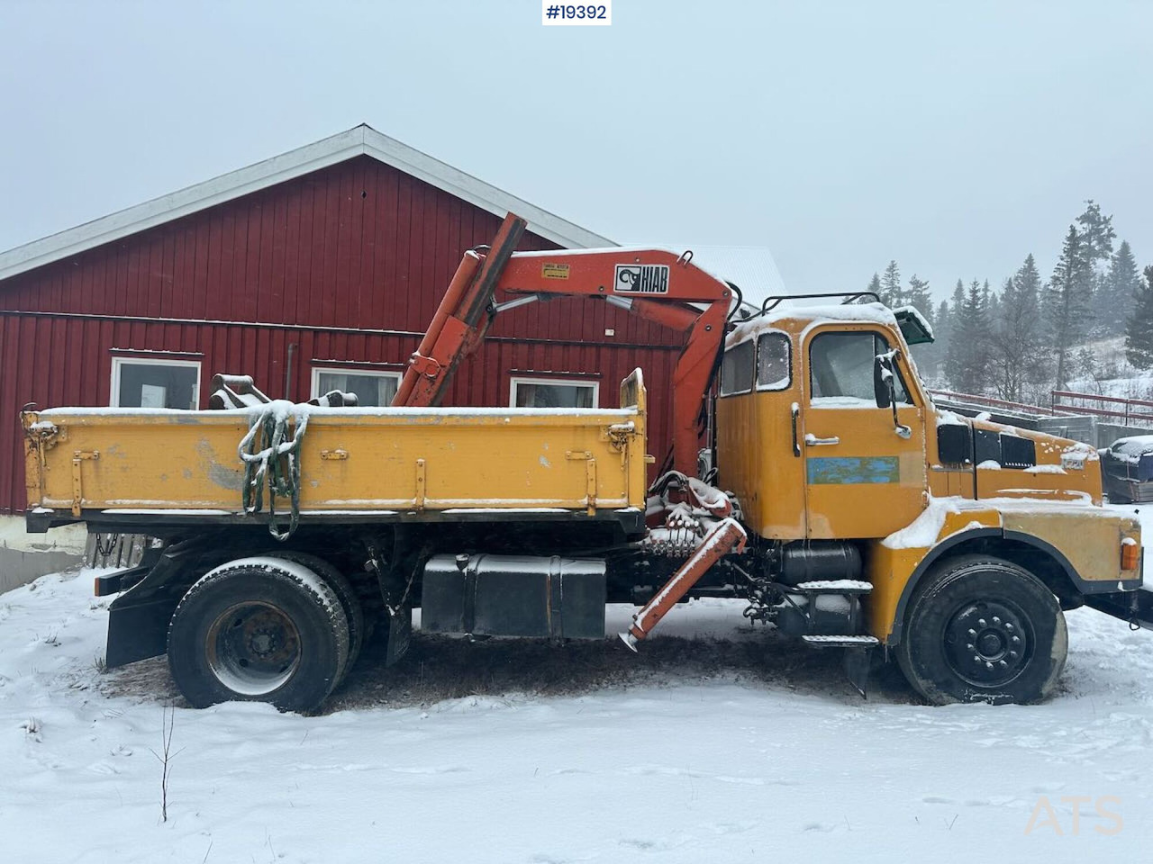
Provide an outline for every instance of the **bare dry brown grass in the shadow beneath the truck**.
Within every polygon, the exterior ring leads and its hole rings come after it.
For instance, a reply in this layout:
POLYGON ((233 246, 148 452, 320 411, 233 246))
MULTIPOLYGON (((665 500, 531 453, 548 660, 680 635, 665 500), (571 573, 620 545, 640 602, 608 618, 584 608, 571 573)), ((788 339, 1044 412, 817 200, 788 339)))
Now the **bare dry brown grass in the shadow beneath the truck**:
MULTIPOLYGON (((364 646, 348 680, 319 713, 375 706, 429 705, 467 696, 571 696, 606 688, 669 687, 724 680, 746 687, 821 695, 857 704, 839 651, 819 651, 798 641, 756 632, 739 639, 655 636, 628 651, 616 637, 556 645, 544 639, 485 639, 415 634, 408 653, 385 668, 384 645, 364 646)), ((874 670, 869 697, 915 702, 894 666, 874 670)), ((165 658, 153 658, 103 676, 108 696, 184 704, 165 658)))

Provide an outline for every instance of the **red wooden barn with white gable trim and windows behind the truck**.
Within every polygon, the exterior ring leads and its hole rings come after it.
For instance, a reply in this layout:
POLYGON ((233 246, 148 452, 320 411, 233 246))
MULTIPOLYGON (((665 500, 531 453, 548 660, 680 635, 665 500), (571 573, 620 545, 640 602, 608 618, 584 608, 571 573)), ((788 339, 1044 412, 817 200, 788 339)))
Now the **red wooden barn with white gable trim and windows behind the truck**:
MULTIPOLYGON (((231 372, 386 404, 461 253, 507 211, 523 249, 612 245, 360 126, 0 255, 0 513, 27 500, 28 402, 201 408, 231 372)), ((641 366, 663 456, 683 339, 595 301, 532 304, 497 319, 449 403, 616 407, 641 366)))

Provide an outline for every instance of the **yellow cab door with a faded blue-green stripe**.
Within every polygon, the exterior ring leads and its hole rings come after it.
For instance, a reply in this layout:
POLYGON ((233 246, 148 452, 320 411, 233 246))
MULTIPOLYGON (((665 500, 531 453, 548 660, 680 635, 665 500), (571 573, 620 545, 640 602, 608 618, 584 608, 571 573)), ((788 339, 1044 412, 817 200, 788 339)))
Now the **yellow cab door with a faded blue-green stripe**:
POLYGON ((919 388, 909 386, 913 377, 903 351, 894 369, 904 429, 891 408, 877 408, 873 389, 874 358, 895 347, 895 335, 873 325, 807 334, 800 447, 812 539, 886 537, 925 507, 925 409, 919 388))

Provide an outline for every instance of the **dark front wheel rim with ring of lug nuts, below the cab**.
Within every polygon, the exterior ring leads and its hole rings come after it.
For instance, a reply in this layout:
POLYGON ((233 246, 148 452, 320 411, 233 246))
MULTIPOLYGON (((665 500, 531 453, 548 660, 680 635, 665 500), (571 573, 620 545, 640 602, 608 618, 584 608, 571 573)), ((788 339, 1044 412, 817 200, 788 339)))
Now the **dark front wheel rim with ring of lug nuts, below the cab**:
POLYGON ((944 659, 974 687, 1004 687, 1028 666, 1037 638, 1028 617, 1003 599, 969 600, 948 617, 942 634, 944 659))

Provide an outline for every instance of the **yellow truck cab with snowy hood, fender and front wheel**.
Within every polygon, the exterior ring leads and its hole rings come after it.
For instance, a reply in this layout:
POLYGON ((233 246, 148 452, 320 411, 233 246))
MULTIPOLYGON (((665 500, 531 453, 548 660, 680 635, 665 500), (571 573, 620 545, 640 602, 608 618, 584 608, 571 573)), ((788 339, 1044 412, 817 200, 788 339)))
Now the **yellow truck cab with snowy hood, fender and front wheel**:
POLYGON ((867 303, 767 311, 726 336, 716 483, 778 592, 766 617, 875 639, 930 700, 1040 698, 1062 609, 1147 626, 1139 523, 1102 507, 1092 447, 939 410, 906 335, 932 339, 913 310, 867 303), (821 623, 796 586, 838 581, 860 614, 821 623))

